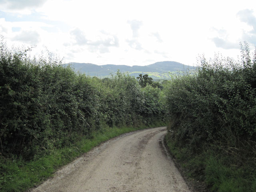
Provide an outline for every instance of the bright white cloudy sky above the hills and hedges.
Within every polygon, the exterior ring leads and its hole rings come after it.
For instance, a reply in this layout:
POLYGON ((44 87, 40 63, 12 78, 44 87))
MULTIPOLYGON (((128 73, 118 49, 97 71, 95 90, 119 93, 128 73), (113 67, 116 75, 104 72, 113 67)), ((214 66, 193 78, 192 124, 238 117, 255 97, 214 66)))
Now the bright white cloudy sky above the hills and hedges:
POLYGON ((255 0, 0 0, 9 46, 49 50, 64 63, 145 66, 256 46, 255 0))

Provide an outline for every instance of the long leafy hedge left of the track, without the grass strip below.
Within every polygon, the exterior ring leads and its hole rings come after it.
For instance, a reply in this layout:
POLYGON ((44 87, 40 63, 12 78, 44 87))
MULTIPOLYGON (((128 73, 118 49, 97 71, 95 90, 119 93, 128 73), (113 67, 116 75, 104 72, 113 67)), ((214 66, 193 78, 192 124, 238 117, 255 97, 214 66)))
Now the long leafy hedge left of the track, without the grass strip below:
POLYGON ((161 114, 158 88, 119 71, 100 80, 77 74, 51 53, 0 45, 0 150, 26 160, 72 145, 106 126, 150 124, 161 114))

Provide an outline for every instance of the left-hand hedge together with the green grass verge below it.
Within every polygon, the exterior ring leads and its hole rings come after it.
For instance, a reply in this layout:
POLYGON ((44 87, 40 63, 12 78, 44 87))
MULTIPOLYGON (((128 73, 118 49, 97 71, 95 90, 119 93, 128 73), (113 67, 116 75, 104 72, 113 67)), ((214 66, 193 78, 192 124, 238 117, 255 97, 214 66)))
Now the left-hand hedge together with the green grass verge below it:
POLYGON ((159 88, 120 72, 90 78, 52 54, 28 54, 0 44, 1 191, 23 191, 103 140, 163 121, 159 88))

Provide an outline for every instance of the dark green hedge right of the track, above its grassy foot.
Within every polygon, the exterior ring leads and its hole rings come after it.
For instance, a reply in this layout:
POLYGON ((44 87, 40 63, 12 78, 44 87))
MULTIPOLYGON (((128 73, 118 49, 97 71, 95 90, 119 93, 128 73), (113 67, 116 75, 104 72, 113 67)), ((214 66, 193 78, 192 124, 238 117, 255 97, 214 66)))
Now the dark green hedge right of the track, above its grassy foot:
POLYGON ((245 43, 240 62, 219 55, 200 62, 166 90, 174 138, 194 150, 216 140, 236 148, 256 142, 256 54, 251 60, 245 43))

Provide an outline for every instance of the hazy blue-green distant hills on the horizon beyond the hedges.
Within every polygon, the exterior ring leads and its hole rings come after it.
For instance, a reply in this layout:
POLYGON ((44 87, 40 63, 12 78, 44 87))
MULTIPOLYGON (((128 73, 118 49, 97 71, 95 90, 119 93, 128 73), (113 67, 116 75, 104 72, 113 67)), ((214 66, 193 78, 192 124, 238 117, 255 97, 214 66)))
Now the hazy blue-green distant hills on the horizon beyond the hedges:
POLYGON ((178 72, 184 70, 193 70, 194 67, 181 64, 175 61, 162 61, 150 64, 147 66, 127 66, 127 65, 96 65, 91 63, 67 63, 64 66, 70 66, 75 71, 80 71, 89 76, 109 77, 115 74, 118 70, 120 72, 128 72, 131 76, 137 77, 139 74, 148 74, 154 79, 168 78, 168 72, 178 72))

